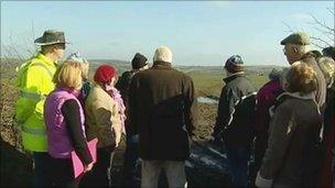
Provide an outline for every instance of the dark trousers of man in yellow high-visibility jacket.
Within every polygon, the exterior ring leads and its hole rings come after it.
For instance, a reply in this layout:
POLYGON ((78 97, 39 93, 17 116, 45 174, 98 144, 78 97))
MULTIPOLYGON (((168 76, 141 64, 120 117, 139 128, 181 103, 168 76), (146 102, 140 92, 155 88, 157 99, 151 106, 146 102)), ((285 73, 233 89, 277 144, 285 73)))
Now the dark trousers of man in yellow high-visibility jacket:
POLYGON ((51 156, 47 154, 47 152, 33 152, 33 187, 51 187, 51 156))

